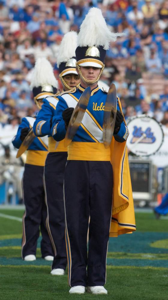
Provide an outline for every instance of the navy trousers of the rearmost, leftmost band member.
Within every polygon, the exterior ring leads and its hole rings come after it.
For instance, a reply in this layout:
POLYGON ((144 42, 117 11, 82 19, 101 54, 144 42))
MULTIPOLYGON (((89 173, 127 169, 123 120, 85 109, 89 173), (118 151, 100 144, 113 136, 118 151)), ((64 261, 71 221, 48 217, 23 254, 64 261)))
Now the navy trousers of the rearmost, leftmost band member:
POLYGON ((22 257, 36 255, 37 240, 41 229, 41 254, 53 256, 52 244, 46 229, 47 210, 43 186, 44 167, 25 164, 23 174, 23 200, 26 211, 23 215, 22 257))

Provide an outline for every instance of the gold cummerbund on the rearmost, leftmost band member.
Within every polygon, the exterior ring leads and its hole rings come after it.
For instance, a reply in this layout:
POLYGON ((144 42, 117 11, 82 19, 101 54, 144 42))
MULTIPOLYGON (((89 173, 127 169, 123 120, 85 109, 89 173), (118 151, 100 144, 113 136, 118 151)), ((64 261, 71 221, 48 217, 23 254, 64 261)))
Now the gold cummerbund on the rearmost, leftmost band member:
POLYGON ((28 150, 26 163, 35 166, 44 166, 48 151, 28 150))

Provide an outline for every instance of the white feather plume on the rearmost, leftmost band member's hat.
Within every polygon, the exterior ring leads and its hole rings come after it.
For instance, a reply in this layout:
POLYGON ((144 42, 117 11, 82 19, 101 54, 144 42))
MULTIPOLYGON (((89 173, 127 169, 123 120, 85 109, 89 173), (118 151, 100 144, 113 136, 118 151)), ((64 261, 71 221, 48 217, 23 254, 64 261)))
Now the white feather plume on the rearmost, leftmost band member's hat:
POLYGON ((45 57, 42 57, 38 58, 35 63, 30 88, 44 85, 58 88, 58 81, 54 76, 52 65, 45 57))

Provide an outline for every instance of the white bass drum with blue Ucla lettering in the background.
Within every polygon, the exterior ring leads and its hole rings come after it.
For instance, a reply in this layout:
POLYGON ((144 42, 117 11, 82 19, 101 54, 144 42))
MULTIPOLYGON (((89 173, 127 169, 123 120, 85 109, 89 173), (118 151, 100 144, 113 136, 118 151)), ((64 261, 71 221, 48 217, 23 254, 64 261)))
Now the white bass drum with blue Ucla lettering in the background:
POLYGON ((161 147, 164 133, 155 119, 140 115, 128 118, 129 136, 127 139, 128 149, 137 156, 149 156, 161 147))

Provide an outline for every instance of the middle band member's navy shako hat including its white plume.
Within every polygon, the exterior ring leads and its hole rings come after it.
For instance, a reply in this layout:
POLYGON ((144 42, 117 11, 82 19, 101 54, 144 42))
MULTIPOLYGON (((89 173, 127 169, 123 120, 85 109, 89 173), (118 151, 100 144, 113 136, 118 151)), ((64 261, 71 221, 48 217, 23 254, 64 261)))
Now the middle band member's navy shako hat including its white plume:
POLYGON ((74 31, 67 32, 60 44, 57 67, 59 68, 59 77, 67 74, 76 74, 76 57, 75 49, 77 47, 77 33, 74 31))

